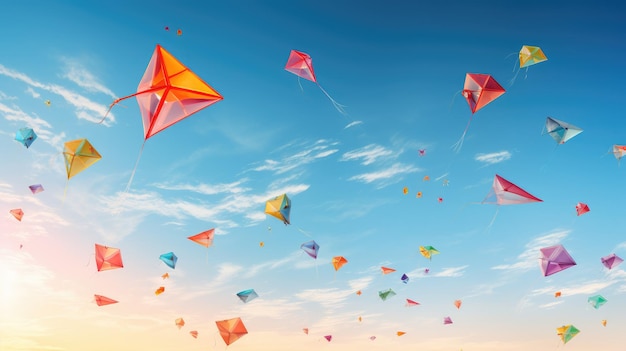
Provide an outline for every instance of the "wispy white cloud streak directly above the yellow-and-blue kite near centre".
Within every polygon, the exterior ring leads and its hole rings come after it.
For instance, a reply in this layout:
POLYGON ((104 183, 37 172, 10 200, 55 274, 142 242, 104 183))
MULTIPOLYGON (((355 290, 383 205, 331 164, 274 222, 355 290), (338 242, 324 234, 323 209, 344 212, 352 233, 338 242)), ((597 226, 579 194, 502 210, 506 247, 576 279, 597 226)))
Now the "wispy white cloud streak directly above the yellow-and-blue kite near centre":
MULTIPOLYGON (((337 153, 339 150, 331 148, 336 146, 337 142, 320 139, 312 145, 305 145, 304 149, 295 154, 288 155, 282 160, 264 160, 260 166, 252 168, 253 171, 270 171, 275 174, 282 174, 297 169, 303 165, 312 163, 318 159, 322 159, 337 153)), ((289 147, 292 147, 290 144, 289 147)))

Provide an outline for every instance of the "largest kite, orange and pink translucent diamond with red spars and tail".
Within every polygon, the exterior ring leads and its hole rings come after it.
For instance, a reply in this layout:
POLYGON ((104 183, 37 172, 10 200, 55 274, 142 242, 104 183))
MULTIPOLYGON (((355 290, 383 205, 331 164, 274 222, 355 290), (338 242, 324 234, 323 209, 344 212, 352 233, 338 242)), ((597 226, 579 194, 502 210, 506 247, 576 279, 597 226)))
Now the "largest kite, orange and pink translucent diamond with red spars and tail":
POLYGON ((144 143, 163 129, 224 99, 161 45, 156 46, 137 92, 113 101, 100 123, 115 104, 131 97, 137 97, 141 111, 144 143))

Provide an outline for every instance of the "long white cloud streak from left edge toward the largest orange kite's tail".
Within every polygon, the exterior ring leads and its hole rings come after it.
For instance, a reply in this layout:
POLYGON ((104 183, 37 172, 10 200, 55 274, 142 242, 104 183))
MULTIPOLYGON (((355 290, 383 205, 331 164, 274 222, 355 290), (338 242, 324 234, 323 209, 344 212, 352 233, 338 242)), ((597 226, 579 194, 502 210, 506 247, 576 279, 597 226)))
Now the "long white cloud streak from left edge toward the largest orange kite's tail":
MULTIPOLYGON (((94 102, 91 99, 74 91, 71 91, 63 86, 57 84, 41 83, 30 78, 24 73, 9 69, 1 64, 0 75, 21 81, 32 88, 46 90, 48 92, 61 96, 67 103, 74 107, 76 117, 78 117, 79 119, 85 119, 90 122, 99 122, 108 110, 108 106, 94 102)), ((115 116, 112 113, 109 113, 107 119, 102 124, 109 125, 114 121, 115 116)))

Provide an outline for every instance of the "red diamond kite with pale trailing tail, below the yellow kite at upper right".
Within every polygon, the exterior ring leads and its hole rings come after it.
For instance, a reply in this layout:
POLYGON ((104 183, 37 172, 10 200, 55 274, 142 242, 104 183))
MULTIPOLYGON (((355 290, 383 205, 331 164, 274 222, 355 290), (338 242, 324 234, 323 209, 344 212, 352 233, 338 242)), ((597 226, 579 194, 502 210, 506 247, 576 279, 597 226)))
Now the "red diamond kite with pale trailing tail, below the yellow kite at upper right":
MULTIPOLYGON (((469 105, 472 115, 476 111, 482 109, 487 104, 504 94, 506 90, 491 75, 481 73, 467 73, 465 75, 465 84, 463 85, 462 95, 469 105)), ((463 146, 463 140, 467 134, 472 116, 470 116, 465 126, 465 130, 461 138, 453 145, 457 151, 463 146)))

